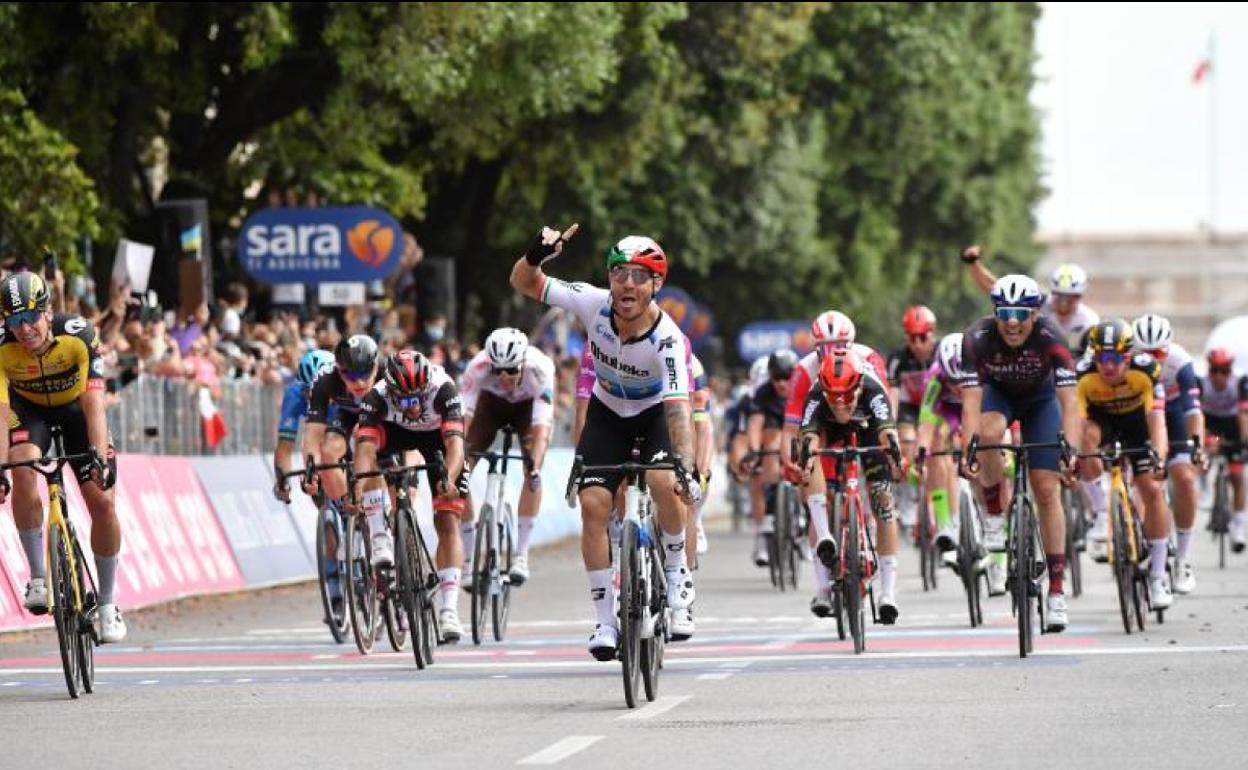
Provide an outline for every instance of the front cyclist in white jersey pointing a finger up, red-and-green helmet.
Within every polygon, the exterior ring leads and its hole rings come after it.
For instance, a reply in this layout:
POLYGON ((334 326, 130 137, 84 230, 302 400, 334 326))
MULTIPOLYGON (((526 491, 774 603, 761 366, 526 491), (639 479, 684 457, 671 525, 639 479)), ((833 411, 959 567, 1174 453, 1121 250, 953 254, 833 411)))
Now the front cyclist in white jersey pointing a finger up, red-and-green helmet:
MULTIPOLYGON (((681 468, 679 479, 670 470, 646 474, 661 530, 668 604, 675 614, 688 609, 695 595, 681 502, 693 504, 700 490, 681 464, 694 453, 685 341, 654 302, 668 276, 668 258, 651 238, 629 236, 608 252, 610 290, 548 277, 542 265, 557 257, 575 232, 575 225, 563 233, 544 227, 515 261, 512 286, 527 297, 572 311, 589 336, 597 379, 577 444, 585 464, 628 462, 634 446, 640 446, 644 462, 671 459, 681 468)), ((619 643, 608 538, 619 485, 618 473, 595 474, 582 479, 579 492, 580 549, 598 618, 589 651, 598 660, 614 660, 619 643)))

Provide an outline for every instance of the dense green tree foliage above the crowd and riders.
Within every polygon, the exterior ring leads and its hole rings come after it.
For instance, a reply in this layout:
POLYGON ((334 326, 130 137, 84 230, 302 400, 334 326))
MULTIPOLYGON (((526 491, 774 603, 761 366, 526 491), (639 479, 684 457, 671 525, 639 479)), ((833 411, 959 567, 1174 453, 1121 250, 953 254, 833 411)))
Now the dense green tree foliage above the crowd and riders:
POLYGON ((61 136, 79 149, 100 191, 99 206, 66 196, 59 227, 99 221, 115 237, 155 192, 136 168, 166 157, 170 177, 208 191, 218 231, 265 203, 248 197, 257 188, 386 207, 429 253, 456 257, 461 291, 487 314, 522 305, 507 272, 532 233, 578 221, 560 275, 600 280, 607 247, 644 232, 729 334, 839 307, 887 344, 910 302, 947 328, 975 312, 963 243, 1035 257, 1037 14, 7 4, 0 82, 52 147, 61 136))

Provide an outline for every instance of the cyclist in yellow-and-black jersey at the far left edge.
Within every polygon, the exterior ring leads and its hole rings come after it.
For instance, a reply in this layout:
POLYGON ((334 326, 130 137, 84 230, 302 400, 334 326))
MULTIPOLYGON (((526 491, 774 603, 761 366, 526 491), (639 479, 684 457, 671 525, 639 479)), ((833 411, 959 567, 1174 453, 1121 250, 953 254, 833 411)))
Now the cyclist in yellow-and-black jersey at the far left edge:
MULTIPOLYGON (((80 316, 52 313, 47 283, 32 272, 14 273, 0 282, 0 419, 9 427, 0 431, 0 463, 46 456, 52 426, 60 426, 67 454, 96 454, 95 462, 76 461, 72 468, 91 514, 91 550, 100 580, 100 640, 121 641, 126 636, 116 599, 121 524, 112 493, 117 463, 105 417, 99 334, 80 316)), ((34 469, 17 468, 10 488, 7 477, 0 473, 0 503, 12 493, 14 522, 30 567, 25 605, 41 615, 47 613, 47 572, 37 479, 34 469)))

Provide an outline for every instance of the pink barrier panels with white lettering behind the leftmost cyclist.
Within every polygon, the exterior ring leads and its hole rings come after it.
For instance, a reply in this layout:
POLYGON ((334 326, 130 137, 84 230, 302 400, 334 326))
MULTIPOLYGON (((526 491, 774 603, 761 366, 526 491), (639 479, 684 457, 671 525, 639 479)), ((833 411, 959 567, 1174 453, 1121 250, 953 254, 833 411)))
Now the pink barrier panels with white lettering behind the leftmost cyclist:
MULTIPOLYGON (((121 522, 117 602, 122 608, 191 594, 237 590, 242 573, 188 458, 117 457, 116 507, 121 522)), ((91 523, 72 478, 70 518, 91 555, 91 523)), ((94 570, 92 564, 92 570, 94 570)), ((29 579, 11 508, 0 515, 0 630, 46 624, 21 607, 29 579)))

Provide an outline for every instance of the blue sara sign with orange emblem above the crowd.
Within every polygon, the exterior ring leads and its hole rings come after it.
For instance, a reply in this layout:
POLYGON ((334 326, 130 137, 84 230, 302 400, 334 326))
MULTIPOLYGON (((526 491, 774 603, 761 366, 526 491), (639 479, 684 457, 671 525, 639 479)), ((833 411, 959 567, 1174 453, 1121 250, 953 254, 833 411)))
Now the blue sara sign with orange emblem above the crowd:
POLYGON ((238 233, 238 263, 266 283, 381 281, 402 252, 398 222, 368 206, 263 208, 238 233))

